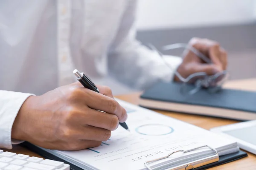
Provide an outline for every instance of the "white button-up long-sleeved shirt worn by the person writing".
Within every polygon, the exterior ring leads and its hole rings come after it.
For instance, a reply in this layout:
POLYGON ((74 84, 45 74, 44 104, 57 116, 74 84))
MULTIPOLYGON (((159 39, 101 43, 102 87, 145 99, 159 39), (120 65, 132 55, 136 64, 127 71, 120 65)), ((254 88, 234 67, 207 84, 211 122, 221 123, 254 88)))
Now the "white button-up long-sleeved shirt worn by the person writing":
MULTIPOLYGON (((111 88, 108 77, 139 89, 172 80, 135 39, 136 7, 137 0, 0 1, 0 147, 12 148, 26 98, 75 82, 74 69, 111 88)), ((181 59, 170 60, 175 70, 181 59)))

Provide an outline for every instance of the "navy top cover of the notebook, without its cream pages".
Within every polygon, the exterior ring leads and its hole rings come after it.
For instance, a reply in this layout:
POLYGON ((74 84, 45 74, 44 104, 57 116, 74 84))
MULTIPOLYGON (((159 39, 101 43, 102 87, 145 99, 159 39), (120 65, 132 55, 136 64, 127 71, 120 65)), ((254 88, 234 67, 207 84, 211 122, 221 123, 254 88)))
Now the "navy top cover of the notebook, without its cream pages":
POLYGON ((158 83, 146 90, 140 97, 163 102, 173 102, 188 105, 201 105, 213 108, 224 108, 256 113, 256 92, 221 89, 209 93, 201 89, 195 94, 184 95, 180 92, 181 84, 177 82, 158 83))

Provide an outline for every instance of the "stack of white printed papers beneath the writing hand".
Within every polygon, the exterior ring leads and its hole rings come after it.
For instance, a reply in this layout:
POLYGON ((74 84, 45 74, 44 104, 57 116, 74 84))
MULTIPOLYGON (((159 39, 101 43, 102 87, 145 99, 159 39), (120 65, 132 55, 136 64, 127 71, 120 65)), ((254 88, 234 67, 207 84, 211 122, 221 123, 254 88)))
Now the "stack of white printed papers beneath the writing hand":
MULTIPOLYGON (((80 151, 46 150, 82 169, 146 170, 145 162, 167 156, 175 150, 189 150, 208 145, 219 156, 239 151, 236 142, 208 130, 172 119, 160 113, 118 100, 128 112, 126 121, 131 132, 118 127, 101 146, 80 151)), ((174 153, 167 159, 150 164, 166 169, 215 155, 207 147, 188 153, 174 153)))

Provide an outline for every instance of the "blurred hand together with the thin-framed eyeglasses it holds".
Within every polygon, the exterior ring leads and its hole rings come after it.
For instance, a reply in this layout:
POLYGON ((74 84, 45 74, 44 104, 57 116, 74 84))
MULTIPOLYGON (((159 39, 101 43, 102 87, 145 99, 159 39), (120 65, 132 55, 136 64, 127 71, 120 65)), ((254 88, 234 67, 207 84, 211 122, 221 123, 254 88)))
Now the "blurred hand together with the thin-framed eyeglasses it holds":
POLYGON ((175 71, 174 80, 183 82, 181 92, 195 94, 201 88, 207 88, 210 92, 218 91, 228 77, 227 52, 220 47, 218 42, 192 38, 188 44, 171 44, 163 47, 163 50, 185 48, 183 62, 177 70, 174 70, 153 45, 151 48, 160 54, 160 57, 175 71))

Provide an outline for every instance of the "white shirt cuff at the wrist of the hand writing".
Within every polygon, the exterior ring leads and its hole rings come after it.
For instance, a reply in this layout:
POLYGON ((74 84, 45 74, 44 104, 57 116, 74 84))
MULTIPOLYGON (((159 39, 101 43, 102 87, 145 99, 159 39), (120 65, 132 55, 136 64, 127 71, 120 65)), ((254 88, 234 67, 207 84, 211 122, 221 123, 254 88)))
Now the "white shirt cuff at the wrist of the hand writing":
POLYGON ((12 149, 12 125, 23 102, 34 94, 0 90, 0 148, 12 149))

